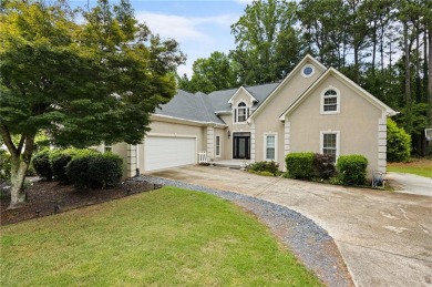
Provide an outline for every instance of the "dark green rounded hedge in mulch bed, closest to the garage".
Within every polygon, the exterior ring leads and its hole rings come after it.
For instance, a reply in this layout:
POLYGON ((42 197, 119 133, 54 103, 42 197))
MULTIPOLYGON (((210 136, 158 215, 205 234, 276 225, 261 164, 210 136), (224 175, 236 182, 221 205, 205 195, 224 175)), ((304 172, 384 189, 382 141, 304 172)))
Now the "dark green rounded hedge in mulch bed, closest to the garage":
POLYGON ((76 187, 106 188, 120 183, 123 161, 106 153, 80 152, 66 166, 66 175, 76 187))

